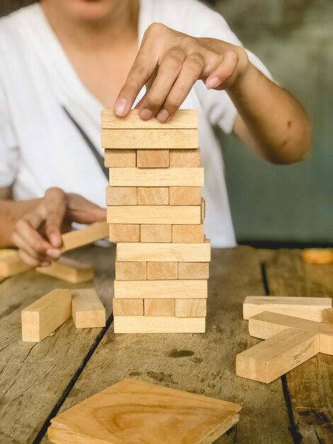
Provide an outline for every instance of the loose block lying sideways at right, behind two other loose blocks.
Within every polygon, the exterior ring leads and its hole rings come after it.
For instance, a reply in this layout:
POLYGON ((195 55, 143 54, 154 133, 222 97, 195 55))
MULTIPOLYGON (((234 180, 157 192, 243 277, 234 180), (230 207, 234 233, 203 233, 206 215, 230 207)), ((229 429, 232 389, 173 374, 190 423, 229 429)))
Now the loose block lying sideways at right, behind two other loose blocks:
POLYGON ((294 296, 247 296, 243 303, 243 318, 249 319, 263 311, 287 314, 296 318, 322 322, 324 309, 332 307, 331 298, 294 296))

